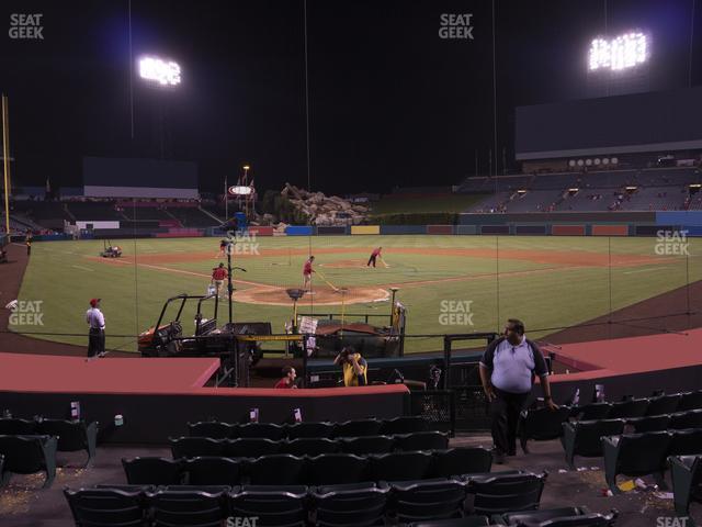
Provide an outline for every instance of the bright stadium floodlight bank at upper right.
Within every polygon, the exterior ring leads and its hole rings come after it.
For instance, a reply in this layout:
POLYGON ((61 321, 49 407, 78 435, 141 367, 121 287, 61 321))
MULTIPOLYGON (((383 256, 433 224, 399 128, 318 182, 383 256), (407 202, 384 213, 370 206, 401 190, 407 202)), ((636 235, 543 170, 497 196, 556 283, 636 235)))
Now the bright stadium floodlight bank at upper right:
POLYGON ((588 66, 590 71, 619 71, 643 64, 647 58, 648 38, 643 33, 631 32, 610 41, 595 38, 590 44, 588 66))

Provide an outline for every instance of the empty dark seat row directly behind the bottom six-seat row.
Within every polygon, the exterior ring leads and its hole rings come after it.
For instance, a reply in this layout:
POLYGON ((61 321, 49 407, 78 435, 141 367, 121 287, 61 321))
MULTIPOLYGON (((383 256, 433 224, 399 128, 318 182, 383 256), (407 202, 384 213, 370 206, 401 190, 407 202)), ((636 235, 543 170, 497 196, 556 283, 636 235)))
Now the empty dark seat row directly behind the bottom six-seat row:
POLYGON ((426 480, 489 472, 492 457, 485 448, 469 447, 365 457, 352 453, 322 453, 316 457, 274 453, 257 459, 134 458, 123 459, 122 462, 129 484, 326 485, 426 480))

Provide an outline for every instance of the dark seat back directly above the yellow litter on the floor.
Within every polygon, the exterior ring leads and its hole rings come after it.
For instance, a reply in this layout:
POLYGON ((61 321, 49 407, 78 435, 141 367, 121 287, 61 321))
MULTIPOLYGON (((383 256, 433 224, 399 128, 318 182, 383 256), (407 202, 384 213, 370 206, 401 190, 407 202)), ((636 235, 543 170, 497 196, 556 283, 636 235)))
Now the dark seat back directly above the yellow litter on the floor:
POLYGON ((618 444, 616 473, 645 475, 665 470, 670 439, 667 431, 622 435, 618 444))

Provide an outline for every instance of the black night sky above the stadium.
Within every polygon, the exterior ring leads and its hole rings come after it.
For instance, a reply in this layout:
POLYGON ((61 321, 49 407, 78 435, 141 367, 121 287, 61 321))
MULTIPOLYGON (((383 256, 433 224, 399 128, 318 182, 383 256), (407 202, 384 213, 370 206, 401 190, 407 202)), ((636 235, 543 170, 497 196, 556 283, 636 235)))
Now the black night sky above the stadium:
MULTIPOLYGON (((699 85, 702 7, 691 43, 692 4, 497 0, 499 172, 502 148, 516 168, 516 105, 609 93, 586 71, 593 36, 652 35, 649 64, 631 91, 699 85)), ((134 58, 171 57, 183 71, 167 91, 133 78, 133 133, 128 2, 2 2, 0 89, 10 98, 15 184, 78 187, 83 156, 162 154, 196 161, 205 191, 235 180, 245 162, 259 191, 307 187, 303 5, 133 0, 134 58), (11 13, 42 13, 44 38, 10 38, 11 13)), ((308 0, 307 34, 313 190, 455 184, 474 173, 476 149, 488 172, 490 1, 308 0), (474 40, 440 38, 442 13, 471 13, 474 40)))

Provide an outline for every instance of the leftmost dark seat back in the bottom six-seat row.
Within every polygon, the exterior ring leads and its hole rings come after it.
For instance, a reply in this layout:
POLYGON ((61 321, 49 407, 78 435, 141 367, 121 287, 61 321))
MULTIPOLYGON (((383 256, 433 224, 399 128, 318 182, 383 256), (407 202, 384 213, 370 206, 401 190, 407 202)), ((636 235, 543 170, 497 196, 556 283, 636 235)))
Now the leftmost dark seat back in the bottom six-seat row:
POLYGON ((76 525, 141 527, 145 509, 140 491, 116 489, 64 490, 76 525))

